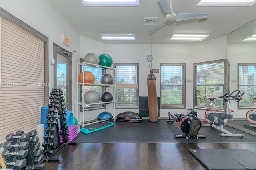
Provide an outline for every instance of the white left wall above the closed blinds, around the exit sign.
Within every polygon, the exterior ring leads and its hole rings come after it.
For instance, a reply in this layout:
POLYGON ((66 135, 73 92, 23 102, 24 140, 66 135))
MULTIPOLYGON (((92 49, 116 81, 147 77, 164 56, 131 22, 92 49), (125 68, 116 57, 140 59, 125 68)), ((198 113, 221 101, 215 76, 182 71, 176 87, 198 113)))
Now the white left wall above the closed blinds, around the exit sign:
MULTIPOLYGON (((47 0, 0 0, 0 7, 49 38, 49 83, 53 85, 53 65, 50 65, 50 59, 53 58, 53 43, 68 51, 76 51, 72 56, 76 61, 80 56, 78 33, 47 0), (70 39, 69 47, 61 42, 62 34, 70 39)), ((75 66, 76 62, 73 62, 72 72, 75 72, 75 66)), ((73 77, 72 81, 75 80, 73 77)), ((49 87, 49 92, 52 88, 53 86, 49 87)), ((74 88, 72 93, 75 94, 74 88)), ((72 100, 74 99, 73 95, 72 100)), ((73 106, 72 110, 74 108, 73 106)))

